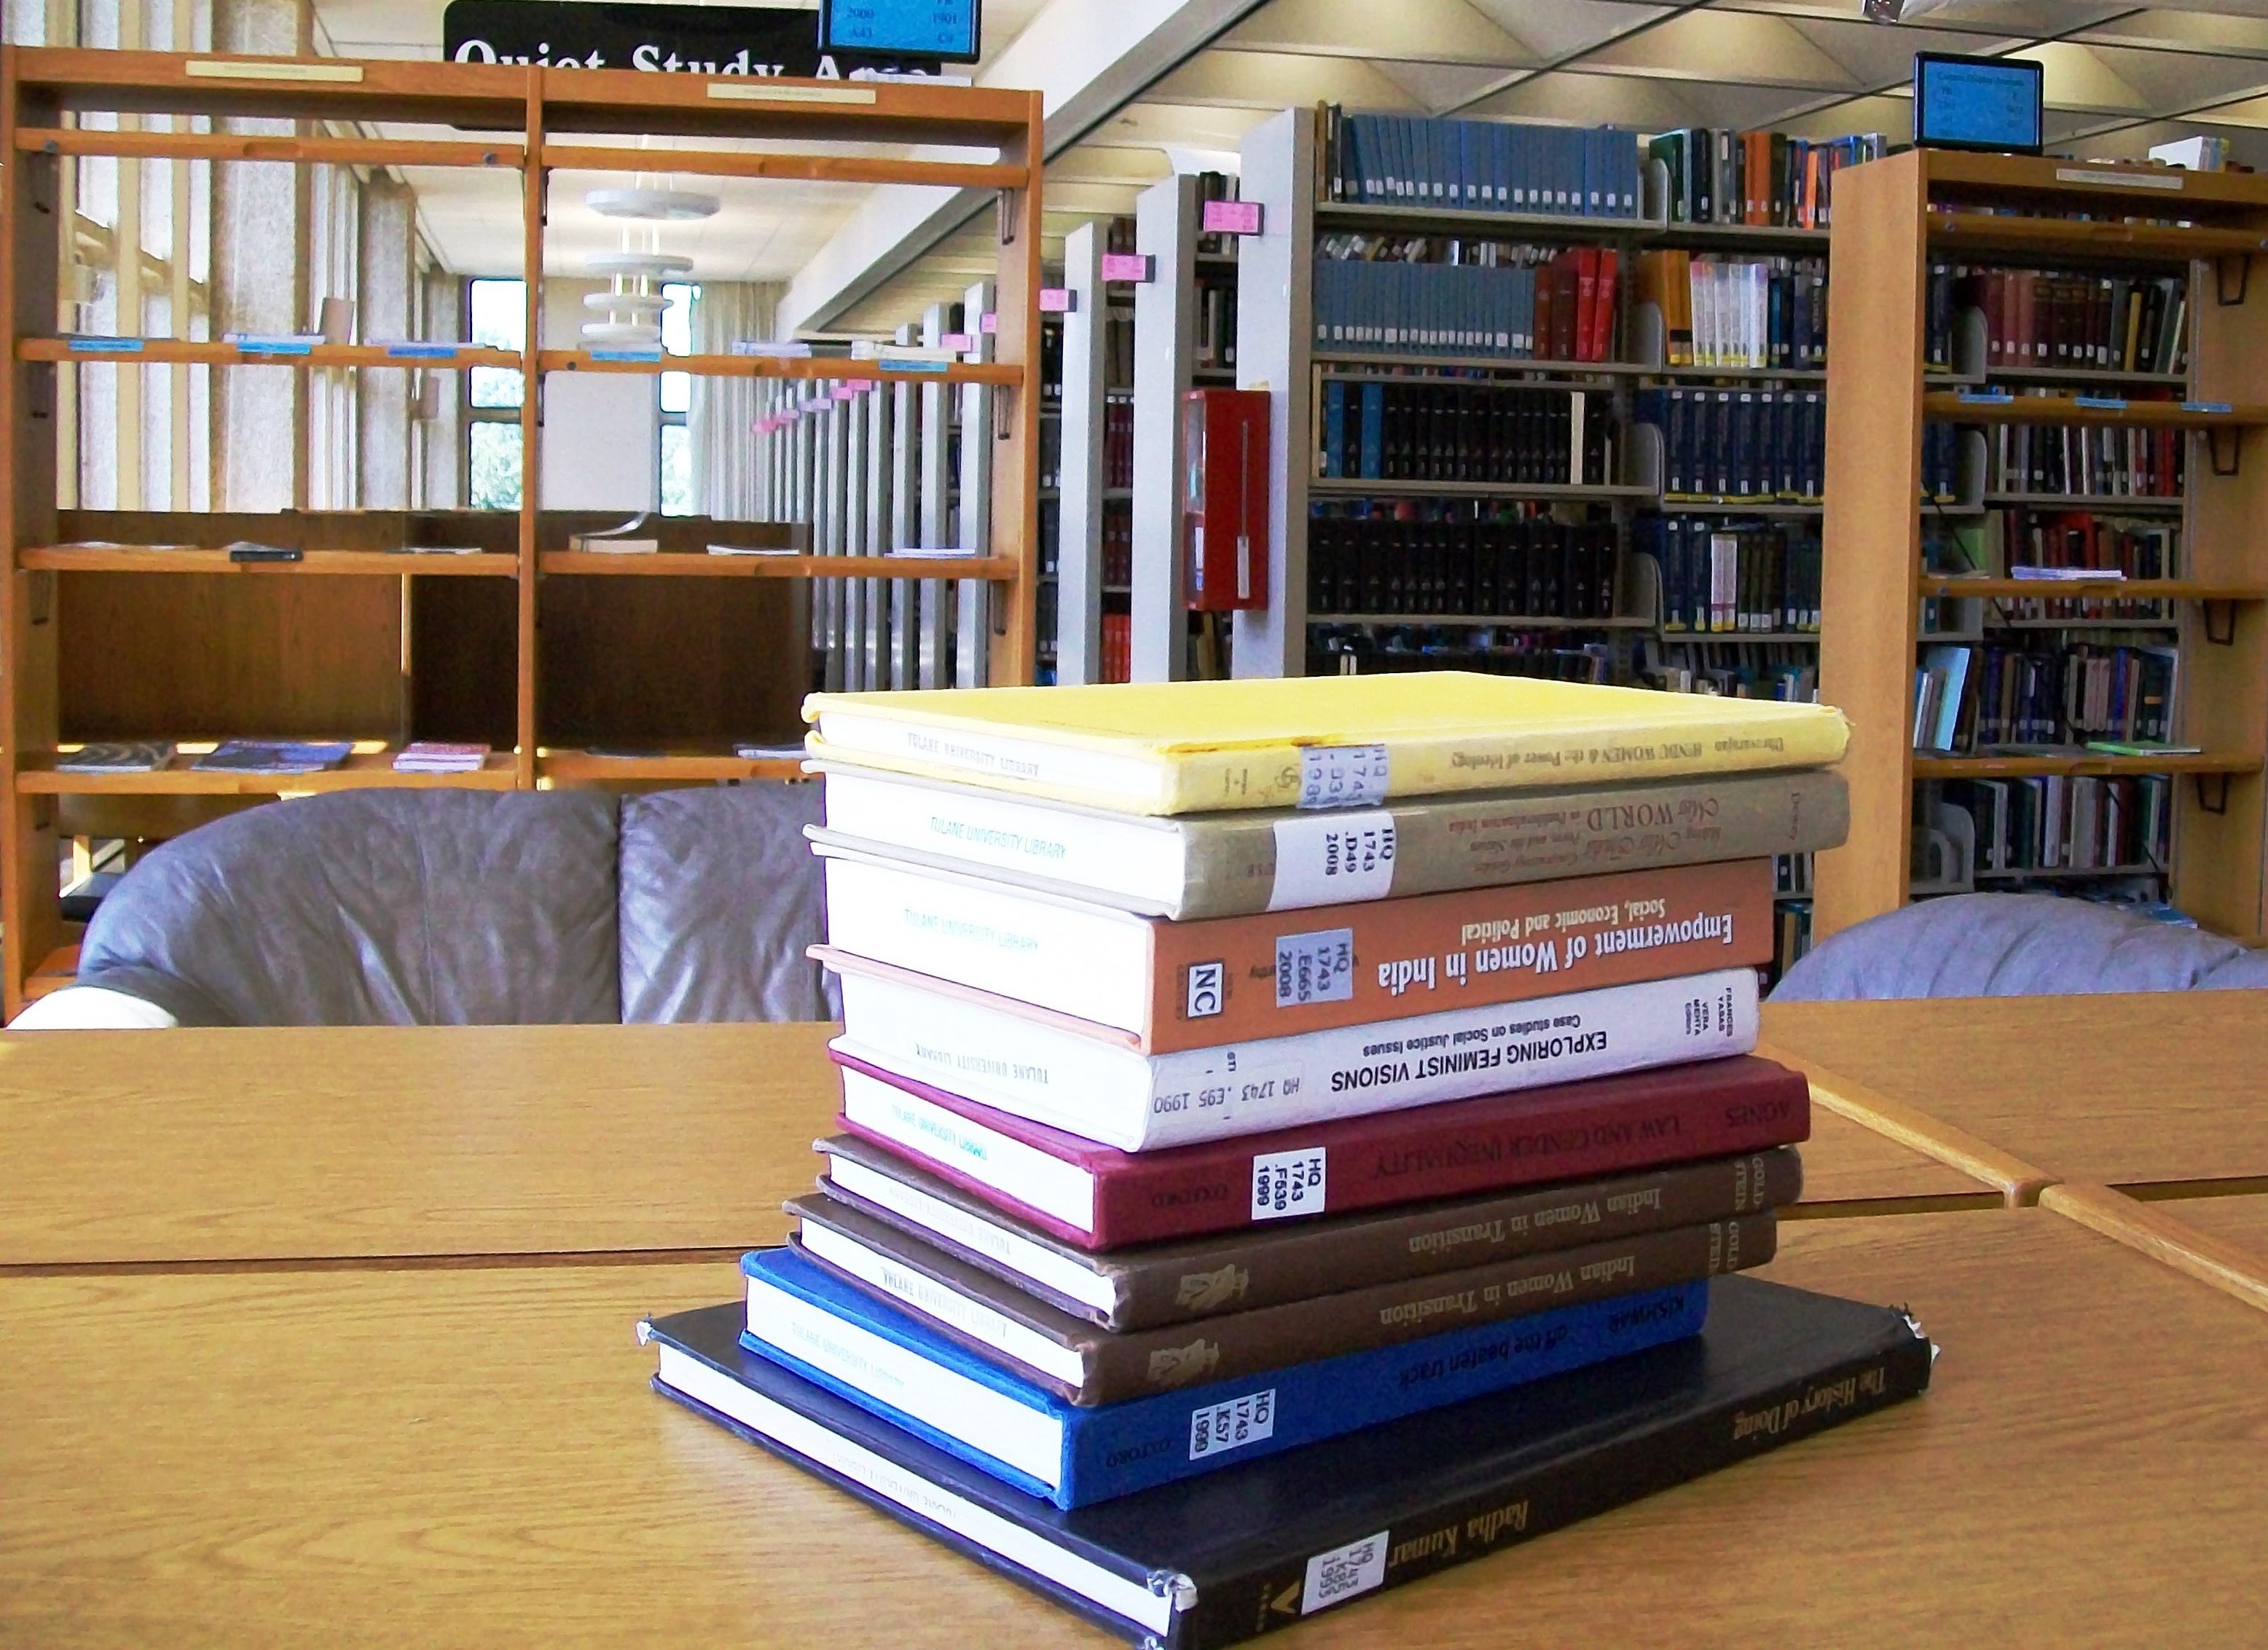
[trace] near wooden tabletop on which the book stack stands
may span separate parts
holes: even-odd
[[[1805,1222],[1769,1276],[1912,1303],[1935,1392],[1297,1643],[2250,1636],[2268,1315],[2046,1210]],[[649,1394],[633,1319],[733,1292],[5,1276],[0,1641],[1109,1643]]]

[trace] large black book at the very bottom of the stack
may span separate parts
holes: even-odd
[[[1692,1339],[1059,1512],[742,1351],[739,1328],[739,1303],[655,1319],[655,1392],[1163,1650],[1288,1627],[1794,1444],[1926,1389],[1935,1355],[1898,1310],[1719,1278]]]

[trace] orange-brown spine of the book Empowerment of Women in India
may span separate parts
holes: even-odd
[[[1372,900],[1327,922],[1152,922],[1148,1002],[1116,1024],[1145,1022],[1168,1054],[1755,966],[1771,943],[1769,859]]]

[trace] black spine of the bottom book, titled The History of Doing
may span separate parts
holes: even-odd
[[[1216,1650],[1331,1605],[1565,1530],[1674,1485],[1799,1444],[1930,1385],[1930,1344],[1912,1342],[1808,1373],[1751,1398],[1572,1451],[1481,1491],[1447,1496],[1386,1530],[1340,1530],[1306,1559],[1207,1577],[1175,1623],[1173,1650]]]

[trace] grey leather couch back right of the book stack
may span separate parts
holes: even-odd
[[[1923,900],[1821,941],[1774,1002],[2059,997],[2268,984],[2236,941],[2048,893]]]

